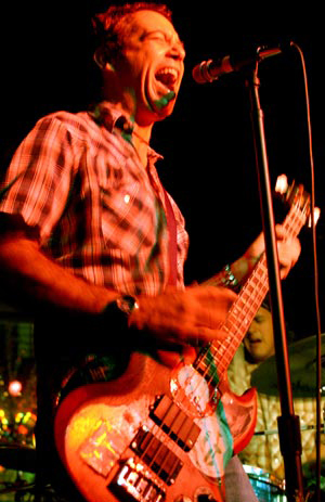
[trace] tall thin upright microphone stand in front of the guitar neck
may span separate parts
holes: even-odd
[[[301,469],[301,437],[299,416],[295,415],[288,362],[288,346],[277,258],[274,215],[271,195],[270,173],[264,134],[263,112],[260,106],[258,62],[247,86],[251,102],[251,120],[256,151],[260,206],[265,239],[265,254],[269,272],[270,297],[274,327],[277,382],[282,415],[277,417],[278,437],[285,465],[286,493],[288,502],[303,502]]]

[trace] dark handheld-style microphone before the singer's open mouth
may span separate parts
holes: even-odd
[[[281,53],[282,49],[280,49],[280,47],[274,49],[262,47],[259,48],[255,54],[246,54],[246,56],[225,55],[224,57],[216,61],[203,61],[202,63],[194,66],[192,76],[197,83],[212,82],[222,75],[230,74],[232,72],[238,72],[245,66]]]

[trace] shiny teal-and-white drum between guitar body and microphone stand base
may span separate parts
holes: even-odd
[[[244,465],[259,502],[287,502],[285,481],[251,465]]]

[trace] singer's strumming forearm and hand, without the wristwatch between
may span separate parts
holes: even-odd
[[[0,241],[0,279],[8,287],[42,306],[75,313],[101,313],[118,292],[94,286],[78,279],[40,253],[38,244],[27,239]],[[226,288],[169,288],[150,297],[136,297],[136,308],[129,325],[156,338],[166,347],[195,340],[223,339],[220,325],[225,320],[235,295]]]

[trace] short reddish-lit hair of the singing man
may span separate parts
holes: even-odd
[[[92,18],[92,25],[98,38],[95,61],[114,61],[120,53],[125,38],[130,34],[128,17],[139,11],[155,11],[171,22],[171,11],[162,3],[135,2],[122,5],[110,5],[102,14]]]

